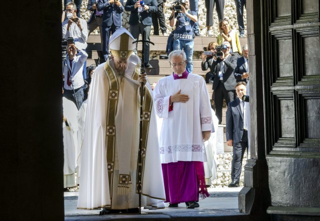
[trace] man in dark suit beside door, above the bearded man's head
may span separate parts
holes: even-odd
[[[236,79],[236,82],[239,81],[244,81],[248,82],[248,77],[249,77],[249,51],[248,51],[248,45],[244,44],[242,46],[242,57],[239,57],[237,62],[236,62],[236,68],[234,70],[234,77]]]

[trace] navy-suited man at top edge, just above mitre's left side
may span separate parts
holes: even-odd
[[[104,60],[109,57],[109,38],[116,29],[121,27],[123,0],[98,0],[98,11],[103,10],[102,15],[102,53]]]

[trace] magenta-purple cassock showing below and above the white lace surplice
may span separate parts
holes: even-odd
[[[185,70],[181,76],[173,73],[173,79],[187,78]],[[169,110],[170,107],[169,107]],[[162,163],[162,174],[165,189],[165,202],[179,203],[198,201],[199,194],[202,198],[209,196],[204,180],[203,162],[177,161]]]

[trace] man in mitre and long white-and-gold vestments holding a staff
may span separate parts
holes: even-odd
[[[111,56],[94,72],[88,94],[77,208],[138,212],[140,59],[134,38],[117,29],[109,39]],[[142,206],[164,207],[156,120],[151,87],[143,97]]]

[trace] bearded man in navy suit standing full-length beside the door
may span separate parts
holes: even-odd
[[[233,146],[231,162],[232,181],[228,187],[239,186],[243,154],[245,148],[248,148],[248,125],[246,125],[247,121],[245,119],[248,105],[242,101],[242,96],[246,92],[246,83],[243,81],[237,82],[235,91],[238,98],[230,102],[226,110],[226,144]]]

